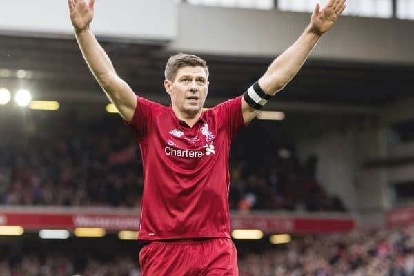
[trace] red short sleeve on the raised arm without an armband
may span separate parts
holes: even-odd
[[[148,133],[148,126],[152,125],[151,122],[159,110],[159,106],[159,103],[137,96],[137,107],[135,108],[134,116],[129,123],[125,123],[137,133],[138,139],[144,139]]]

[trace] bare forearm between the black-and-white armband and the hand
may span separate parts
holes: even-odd
[[[260,87],[270,95],[282,90],[302,68],[319,38],[320,35],[313,32],[311,26],[306,27],[299,39],[270,64],[259,79]]]

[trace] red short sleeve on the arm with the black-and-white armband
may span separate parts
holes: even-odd
[[[246,125],[243,120],[242,96],[220,103],[215,109],[226,124],[230,138],[233,139],[240,128]]]

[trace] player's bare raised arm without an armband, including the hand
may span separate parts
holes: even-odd
[[[68,3],[70,20],[75,28],[76,39],[83,58],[103,91],[117,107],[121,117],[125,121],[131,121],[137,106],[135,93],[117,75],[108,55],[89,28],[93,19],[95,0],[89,0],[89,3],[84,0],[68,0]]]

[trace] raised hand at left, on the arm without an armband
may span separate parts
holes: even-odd
[[[93,19],[93,6],[95,0],[68,0],[70,10],[70,20],[75,28],[75,32],[81,32],[89,27]]]

